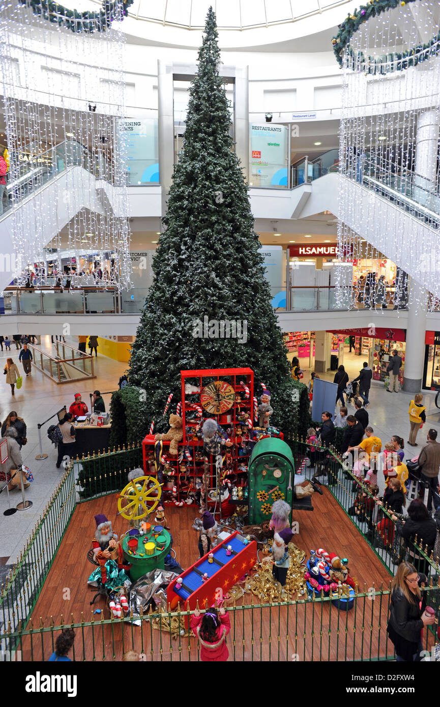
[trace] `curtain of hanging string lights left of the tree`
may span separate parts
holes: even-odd
[[[46,279],[52,274],[53,284],[68,276],[79,286],[97,280],[131,286],[127,158],[119,131],[125,5],[105,7],[105,32],[83,33],[83,16],[69,20],[76,23],[72,32],[62,6],[0,2],[11,247],[24,266],[18,284],[34,271]]]

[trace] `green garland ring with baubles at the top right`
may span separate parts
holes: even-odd
[[[368,5],[361,5],[359,10],[350,13],[345,21],[338,25],[339,32],[332,39],[333,52],[338,64],[342,67],[342,57],[349,41],[359,27],[372,17],[380,15],[382,12],[393,8],[408,5],[415,0],[369,0]],[[417,66],[419,62],[424,62],[429,57],[434,57],[440,53],[440,32],[432,37],[427,44],[417,45],[407,52],[394,52],[384,54],[382,57],[365,57],[363,52],[354,52],[349,49],[352,58],[352,69],[362,66],[366,74],[386,74],[389,71],[402,71],[409,66]]]

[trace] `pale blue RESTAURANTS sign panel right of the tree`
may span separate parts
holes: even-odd
[[[250,185],[287,188],[287,127],[250,123],[249,141]]]

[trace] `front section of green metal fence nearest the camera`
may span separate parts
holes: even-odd
[[[439,617],[439,588],[424,588],[427,602]],[[227,607],[231,630],[226,644],[234,661],[386,661],[395,660],[386,626],[389,588],[360,592],[354,607],[341,611],[329,597],[272,604]],[[149,613],[125,619],[81,621],[61,619],[59,625],[33,626],[8,633],[21,660],[47,660],[60,631],[74,629],[72,660],[121,660],[134,650],[148,661],[198,661],[200,645],[187,626],[193,612]],[[203,614],[203,612],[202,612]],[[135,624],[134,622],[137,622]],[[434,644],[432,631],[423,632],[423,649]]]

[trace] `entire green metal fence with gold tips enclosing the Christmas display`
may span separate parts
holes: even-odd
[[[303,440],[294,440],[296,468],[305,458],[307,446]],[[345,468],[334,449],[319,448],[323,452],[321,469],[328,477],[329,489],[347,513],[354,505],[356,480]],[[101,619],[86,621],[70,617],[67,624],[35,627],[29,621],[42,585],[62,540],[76,503],[86,498],[105,496],[122,489],[127,471],[142,462],[141,448],[114,450],[102,455],[72,462],[65,470],[57,489],[25,542],[20,559],[14,564],[1,586],[0,648],[21,650],[23,660],[47,660],[54,650],[54,641],[63,627],[76,630],[75,660],[120,660],[125,650],[133,648],[144,653],[148,660],[198,660],[199,645],[185,629],[189,614],[166,612],[136,618]],[[306,468],[310,478],[313,471]],[[369,489],[362,492],[371,496]],[[383,517],[394,530],[394,522],[385,509]],[[349,516],[371,545],[390,575],[395,573],[398,561],[408,559],[419,571],[431,575],[427,601],[436,609],[439,619],[439,586],[432,578],[439,574],[439,559],[433,558],[427,548],[417,542],[407,547],[396,532],[384,534],[377,528],[378,519],[366,514],[365,520]],[[378,543],[381,547],[377,547]],[[436,577],[434,578],[436,580]],[[389,589],[364,588],[354,598],[349,612],[338,610],[330,597],[303,598],[298,601],[254,604],[254,597],[245,597],[250,604],[228,607],[231,633],[228,636],[229,653],[234,660],[393,660],[393,646],[387,643]],[[140,626],[134,623],[140,621]],[[434,629],[424,631],[424,648],[429,650],[434,641]]]

